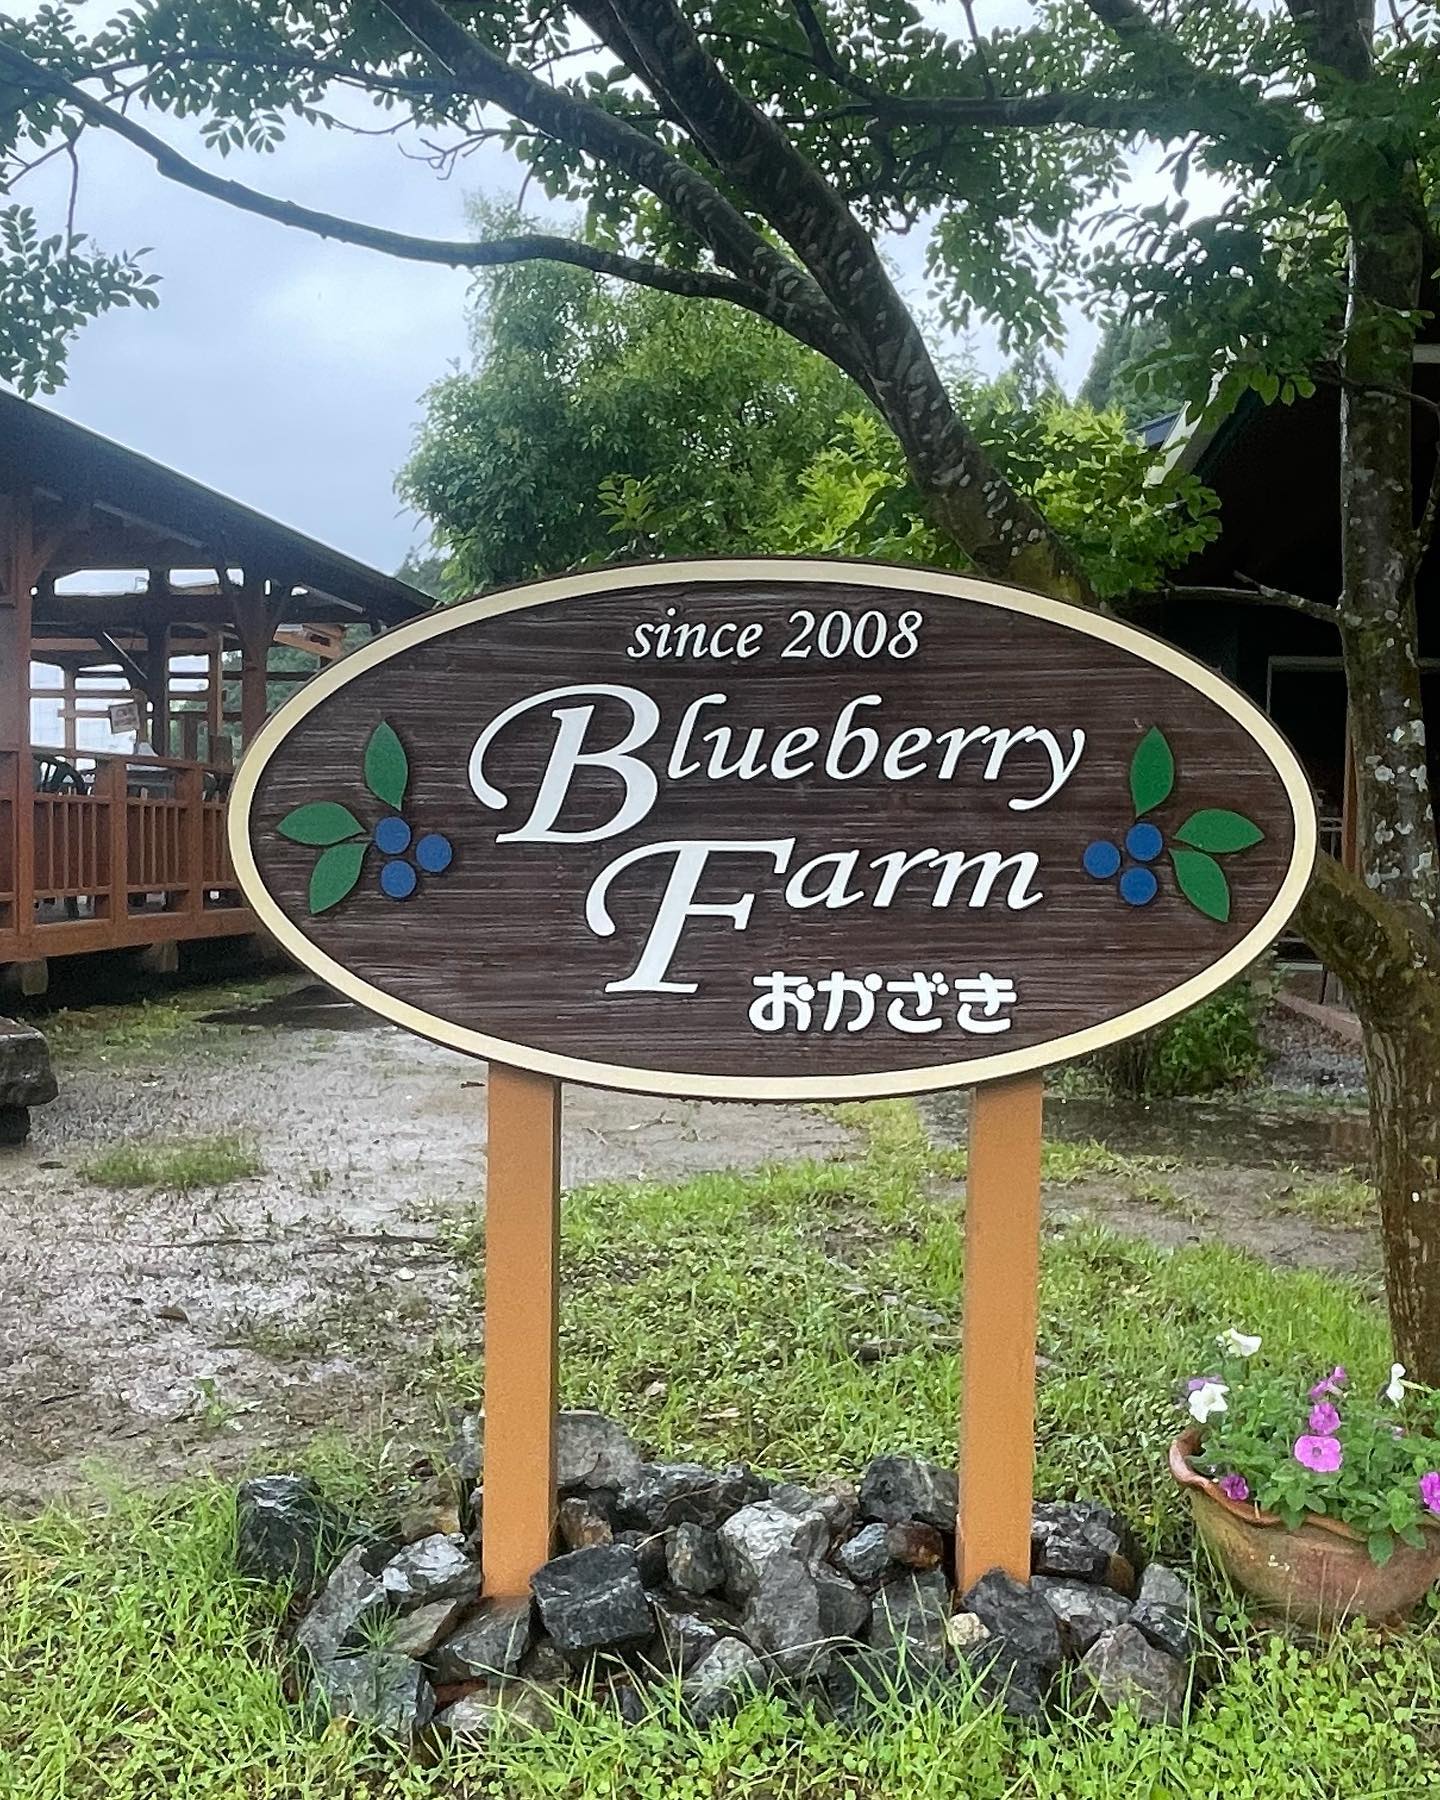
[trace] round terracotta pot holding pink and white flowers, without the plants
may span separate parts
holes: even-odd
[[[1364,1539],[1339,1519],[1307,1512],[1296,1530],[1251,1501],[1228,1499],[1190,1467],[1201,1433],[1170,1445],[1170,1474],[1190,1494],[1195,1528],[1237,1588],[1300,1625],[1337,1625],[1345,1618],[1399,1618],[1440,1580],[1440,1530],[1426,1530],[1424,1550],[1397,1543],[1381,1566]]]

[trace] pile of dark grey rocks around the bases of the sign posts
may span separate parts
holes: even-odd
[[[756,1692],[862,1719],[889,1697],[972,1688],[1039,1717],[1071,1697],[1179,1719],[1199,1651],[1186,1582],[1141,1557],[1105,1507],[1035,1508],[1031,1579],[992,1570],[954,1595],[956,1478],[880,1456],[859,1489],[769,1483],[742,1463],[644,1462],[599,1413],[558,1431],[563,1552],[522,1600],[479,1598],[479,1496],[409,1543],[365,1535],[317,1575],[337,1521],[295,1476],[239,1492],[239,1566],[311,1595],[295,1629],[319,1708],[401,1737],[542,1728],[583,1683],[626,1715],[646,1687],[697,1723]],[[436,1523],[434,1516],[428,1519]]]

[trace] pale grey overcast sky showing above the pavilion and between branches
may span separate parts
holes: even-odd
[[[97,18],[112,5],[77,11]],[[977,13],[992,25],[1028,7],[979,0]],[[520,185],[518,166],[493,146],[443,182],[403,155],[403,139],[297,126],[275,155],[221,162],[202,149],[193,124],[144,117],[176,149],[227,176],[419,236],[468,236],[466,193],[513,198]],[[162,275],[160,306],[88,326],[67,385],[41,396],[41,405],[394,569],[421,536],[394,497],[394,473],[425,387],[466,356],[468,277],[236,212],[162,180],[137,149],[104,133],[86,133],[81,164],[79,227],[104,248],[149,245],[148,265]],[[59,229],[67,184],[56,160],[14,198]],[[922,297],[922,243],[887,248]],[[1084,374],[1091,347],[1093,333],[1076,322],[1062,367],[1067,385]],[[985,340],[977,351],[995,365]]]

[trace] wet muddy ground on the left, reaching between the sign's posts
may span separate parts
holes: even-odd
[[[0,1152],[0,1503],[90,1463],[167,1480],[329,1427],[423,1431],[410,1372],[479,1332],[446,1226],[484,1192],[484,1066],[319,988],[194,1019],[58,1031],[61,1098]],[[83,1172],[121,1141],[216,1134],[263,1174],[182,1197]],[[565,1089],[567,1184],[846,1141],[808,1109]]]

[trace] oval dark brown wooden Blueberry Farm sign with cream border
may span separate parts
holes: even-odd
[[[1183,1012],[1300,900],[1271,722],[1100,614],[922,569],[538,581],[311,680],[236,776],[247,898],[412,1031],[650,1093],[968,1085]]]

